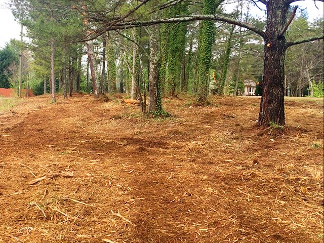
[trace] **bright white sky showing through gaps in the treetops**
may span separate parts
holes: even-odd
[[[52,0],[55,1],[55,0]],[[20,39],[20,25],[15,21],[12,12],[8,9],[9,0],[0,0],[0,48],[4,48],[11,38]],[[323,16],[323,3],[316,1],[315,7],[313,0],[298,1],[295,5],[307,8],[309,20]],[[260,5],[261,7],[262,5]],[[256,14],[260,11],[255,8]]]

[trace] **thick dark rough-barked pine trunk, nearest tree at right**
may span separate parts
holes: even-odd
[[[285,125],[284,78],[286,39],[281,31],[287,23],[289,4],[271,0],[267,4],[267,29],[264,46],[262,98],[258,125]]]

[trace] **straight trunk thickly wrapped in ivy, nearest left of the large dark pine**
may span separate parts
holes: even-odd
[[[215,14],[215,0],[204,0],[203,14]],[[209,93],[212,51],[215,42],[215,22],[203,20],[200,23],[198,44],[197,102],[207,103]]]

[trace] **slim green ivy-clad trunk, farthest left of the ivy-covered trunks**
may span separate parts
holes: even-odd
[[[114,94],[117,92],[116,89],[116,63],[115,63],[115,52],[111,46],[111,41],[107,42],[107,85],[108,92]]]

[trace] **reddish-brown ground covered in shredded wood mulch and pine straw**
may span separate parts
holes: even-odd
[[[0,114],[0,242],[322,242],[323,103],[165,99],[172,116],[74,95]]]

